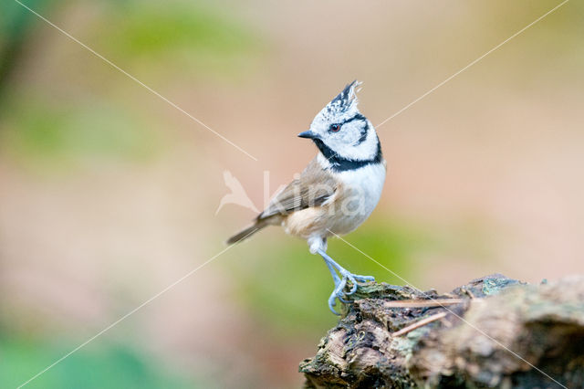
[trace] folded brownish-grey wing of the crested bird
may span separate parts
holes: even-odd
[[[300,177],[288,184],[270,201],[264,212],[257,216],[257,220],[275,215],[288,215],[309,206],[322,205],[336,190],[336,181],[328,171],[320,167],[315,158],[308,163]]]

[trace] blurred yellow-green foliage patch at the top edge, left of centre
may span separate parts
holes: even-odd
[[[220,7],[173,0],[112,2],[91,41],[125,66],[183,77],[239,75],[263,46],[253,28]]]

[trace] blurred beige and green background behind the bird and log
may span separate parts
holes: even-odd
[[[23,384],[224,249],[316,153],[346,83],[384,121],[559,4],[23,0],[0,4],[0,386]],[[381,204],[347,239],[420,289],[584,272],[584,5],[568,2],[378,128]],[[267,174],[266,173],[266,174]],[[352,271],[401,279],[339,240]],[[268,229],[30,388],[298,387],[337,318],[305,242]]]

